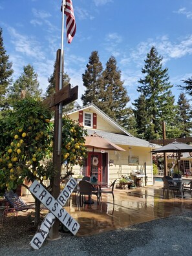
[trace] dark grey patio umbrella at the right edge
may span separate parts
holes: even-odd
[[[152,153],[169,153],[169,152],[175,153],[177,169],[178,169],[178,154],[184,153],[184,152],[192,152],[192,146],[184,143],[176,142],[175,140],[175,142],[159,147],[158,149],[154,149],[151,152]]]

